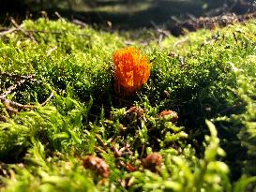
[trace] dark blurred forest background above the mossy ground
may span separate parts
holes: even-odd
[[[254,3],[253,3],[254,2]],[[44,11],[44,12],[42,12]],[[0,0],[0,22],[36,19],[55,11],[69,20],[121,29],[173,25],[189,19],[255,11],[254,0]]]

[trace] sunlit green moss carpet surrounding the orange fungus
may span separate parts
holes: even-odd
[[[127,97],[114,92],[122,37],[21,27],[0,37],[0,191],[255,187],[255,21],[150,42],[150,78]]]

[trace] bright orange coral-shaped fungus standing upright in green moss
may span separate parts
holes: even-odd
[[[128,96],[148,80],[150,66],[145,55],[134,47],[128,47],[113,53],[115,91]]]

